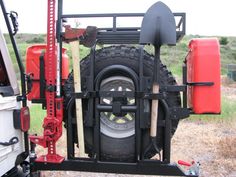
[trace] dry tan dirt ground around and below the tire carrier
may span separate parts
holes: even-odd
[[[236,87],[222,86],[226,97],[236,99]],[[59,143],[61,154],[66,154],[65,137]],[[184,160],[201,164],[200,177],[236,177],[236,120],[182,120],[172,139],[172,162]],[[43,172],[44,177],[141,177],[85,172]],[[142,176],[144,177],[144,176]]]

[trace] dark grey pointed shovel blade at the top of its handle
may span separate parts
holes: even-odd
[[[143,17],[140,44],[176,44],[176,24],[174,14],[163,2],[153,4]]]

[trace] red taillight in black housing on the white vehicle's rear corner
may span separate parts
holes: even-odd
[[[23,107],[20,110],[14,110],[14,127],[26,132],[30,128],[30,111],[28,107]]]

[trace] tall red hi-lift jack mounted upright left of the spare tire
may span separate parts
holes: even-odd
[[[56,153],[56,142],[62,135],[63,99],[56,98],[56,0],[48,0],[48,29],[45,61],[47,116],[44,118],[43,136],[30,136],[30,140],[48,148],[47,155],[36,159],[38,162],[61,163],[64,157]]]

